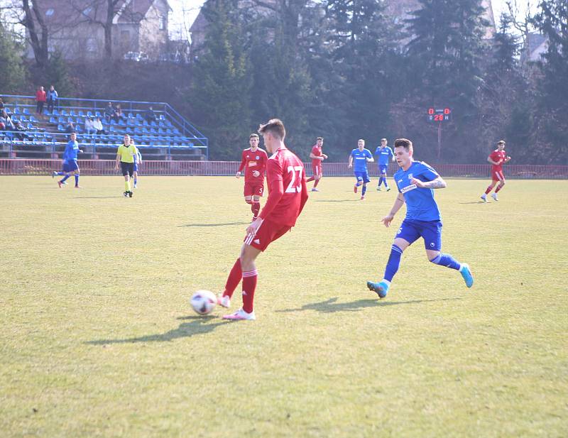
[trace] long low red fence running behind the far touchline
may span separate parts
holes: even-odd
[[[116,175],[114,160],[79,160],[83,175]],[[488,177],[488,164],[439,164],[434,168],[444,177]],[[144,161],[140,172],[143,175],[234,175],[238,161]],[[307,175],[312,175],[312,166],[305,164]],[[0,159],[0,175],[49,175],[61,170],[61,160]],[[371,176],[378,175],[376,165],[369,165]],[[388,174],[398,166],[391,163]],[[568,178],[568,166],[560,165],[506,165],[506,177],[510,178]],[[325,176],[352,176],[346,163],[323,163]]]

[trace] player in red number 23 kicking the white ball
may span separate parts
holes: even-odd
[[[243,307],[224,319],[256,319],[253,311],[257,272],[254,261],[268,245],[288,233],[295,225],[307,201],[304,165],[284,145],[286,130],[279,119],[271,119],[258,128],[271,158],[266,163],[268,199],[258,219],[246,229],[241,256],[236,259],[219,305],[229,307],[234,290],[243,280]]]

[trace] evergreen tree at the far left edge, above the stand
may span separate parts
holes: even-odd
[[[0,94],[19,94],[26,83],[23,48],[0,23]]]

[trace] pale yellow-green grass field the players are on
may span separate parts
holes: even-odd
[[[258,259],[255,322],[189,305],[238,256],[242,180],[81,182],[0,177],[0,437],[568,435],[568,181],[449,180],[474,287],[420,241],[378,301],[404,210],[326,178]]]

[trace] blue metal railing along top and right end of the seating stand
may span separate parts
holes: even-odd
[[[26,108],[30,114],[35,113],[35,96],[0,94],[0,97],[4,100],[4,106]],[[132,113],[134,116],[136,116],[136,114],[143,115],[148,110],[148,107],[152,106],[155,113],[158,114],[158,116],[163,115],[165,119],[170,120],[173,126],[180,130],[182,136],[199,143],[199,147],[205,150],[205,155],[207,159],[209,159],[209,139],[166,102],[58,97],[55,101],[54,108],[57,109],[58,112],[65,109],[77,111],[77,113],[78,111],[91,111],[93,114],[96,114],[97,111],[99,111],[101,116],[104,116],[104,109],[109,102],[114,105],[120,104],[123,112]],[[45,107],[47,107],[47,105],[45,105]]]

